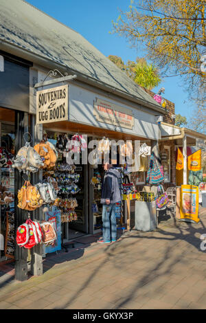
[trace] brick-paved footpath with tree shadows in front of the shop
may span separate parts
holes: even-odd
[[[190,224],[171,213],[154,232],[133,231],[111,245],[77,243],[49,255],[45,274],[26,282],[10,271],[0,278],[0,309],[205,309],[206,209],[199,217]]]

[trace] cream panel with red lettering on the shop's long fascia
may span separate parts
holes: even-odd
[[[93,113],[99,122],[133,129],[134,117],[130,109],[119,107],[117,104],[97,98],[94,102]]]

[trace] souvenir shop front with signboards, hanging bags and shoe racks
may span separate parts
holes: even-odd
[[[27,88],[28,85],[27,76]],[[101,156],[106,153],[113,157],[111,142],[123,142],[117,146],[115,156],[122,173],[119,185],[122,194],[132,194],[146,181],[149,147],[159,139],[155,111],[137,110],[124,100],[115,101],[101,92],[71,84],[47,89],[50,96],[43,91],[36,91],[34,96],[36,115],[10,109],[7,102],[0,104],[0,260],[16,260],[17,280],[27,279],[28,263],[32,274],[42,274],[42,256],[60,250],[66,241],[100,232],[104,171],[102,157],[98,159],[92,153],[94,148]],[[48,102],[49,98],[52,102]],[[23,109],[23,101],[20,102]],[[24,102],[31,105],[28,91]],[[91,140],[94,145],[90,145]],[[128,165],[119,164],[119,156],[130,150],[130,145],[125,146],[126,140],[132,142],[134,156],[139,156],[139,145],[147,150],[136,158],[138,161],[130,170]],[[95,162],[89,162],[89,153]],[[128,183],[131,172],[132,184]],[[116,216],[117,224],[123,226],[127,221],[123,203],[117,205]],[[44,244],[39,243],[42,239],[39,223],[43,225],[42,232],[50,234],[50,240]],[[54,225],[48,227],[47,223]],[[36,234],[34,241],[28,242],[26,236],[31,230]]]

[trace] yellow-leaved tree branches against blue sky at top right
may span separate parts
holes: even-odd
[[[206,77],[201,71],[205,8],[205,0],[133,0],[113,23],[113,32],[146,50],[162,77],[181,75],[190,98],[201,100],[201,104],[205,104],[205,91],[200,98]]]

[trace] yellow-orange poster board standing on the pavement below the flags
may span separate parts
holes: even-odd
[[[181,186],[180,220],[198,223],[198,186]]]

